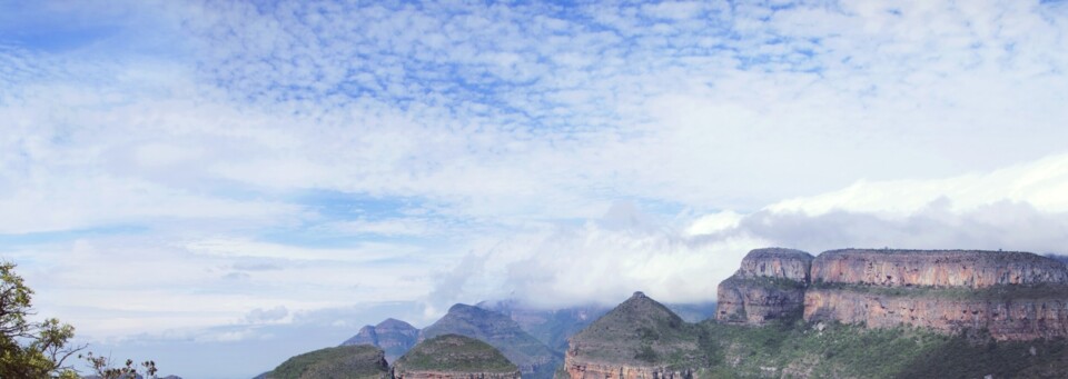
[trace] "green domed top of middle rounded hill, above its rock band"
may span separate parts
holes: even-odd
[[[443,335],[419,342],[397,360],[396,367],[406,371],[518,371],[518,368],[494,347],[458,335]]]

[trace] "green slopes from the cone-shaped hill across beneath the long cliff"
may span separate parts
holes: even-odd
[[[996,342],[981,330],[946,336],[800,318],[764,327],[688,323],[640,293],[575,335],[568,353],[689,369],[698,378],[1068,378],[1064,339]]]

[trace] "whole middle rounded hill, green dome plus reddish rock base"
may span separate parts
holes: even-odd
[[[396,379],[520,379],[518,368],[486,342],[442,335],[416,345],[394,363]]]

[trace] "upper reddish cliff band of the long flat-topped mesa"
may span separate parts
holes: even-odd
[[[812,280],[872,286],[985,288],[1068,283],[1068,270],[1029,252],[968,250],[832,250],[812,263]]]

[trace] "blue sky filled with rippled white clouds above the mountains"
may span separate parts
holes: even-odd
[[[761,247],[1068,253],[1066,103],[1065,1],[0,0],[0,258],[90,350],[249,378]]]

